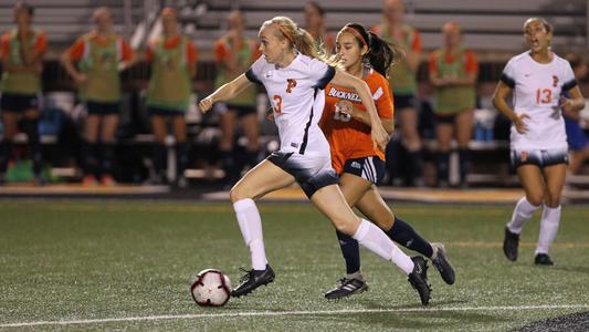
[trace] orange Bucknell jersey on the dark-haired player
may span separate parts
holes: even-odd
[[[381,118],[392,118],[392,95],[387,79],[370,70],[364,81],[370,87],[378,115]],[[370,126],[351,118],[348,114],[336,112],[335,104],[340,100],[349,101],[354,107],[366,112],[360,96],[354,90],[334,84],[328,84],[325,89],[325,108],[319,126],[329,142],[334,169],[337,174],[341,174],[346,160],[351,158],[378,156],[385,160],[385,152],[380,147],[374,148]]]

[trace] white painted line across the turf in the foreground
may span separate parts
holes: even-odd
[[[515,310],[550,310],[550,309],[589,309],[589,304],[546,304],[546,305],[498,305],[498,307],[440,307],[440,308],[407,308],[407,309],[350,309],[350,310],[319,310],[319,311],[251,311],[202,314],[168,314],[127,318],[107,318],[72,321],[38,321],[0,324],[0,328],[24,328],[40,325],[74,325],[101,324],[113,322],[164,321],[164,320],[196,320],[208,318],[241,318],[241,317],[287,317],[287,315],[332,315],[354,313],[397,313],[397,312],[445,312],[445,311],[515,311]]]

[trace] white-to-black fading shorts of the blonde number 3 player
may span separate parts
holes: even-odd
[[[339,183],[330,159],[324,156],[274,152],[266,159],[292,175],[308,198],[320,188]]]

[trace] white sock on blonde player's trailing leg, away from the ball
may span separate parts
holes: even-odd
[[[362,247],[380,256],[385,260],[393,262],[406,274],[413,271],[413,261],[401,251],[392,240],[370,221],[360,219],[360,226],[353,236]]]

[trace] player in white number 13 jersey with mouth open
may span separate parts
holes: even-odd
[[[534,263],[553,266],[548,250],[560,222],[568,163],[561,112],[579,112],[585,100],[570,64],[550,50],[553,27],[530,18],[524,23],[524,37],[529,51],[507,62],[493,97],[495,107],[513,122],[512,165],[526,194],[505,227],[503,250],[507,259],[517,260],[519,234],[544,204]],[[513,108],[505,102],[512,91]],[[561,97],[562,93],[568,97]]]

